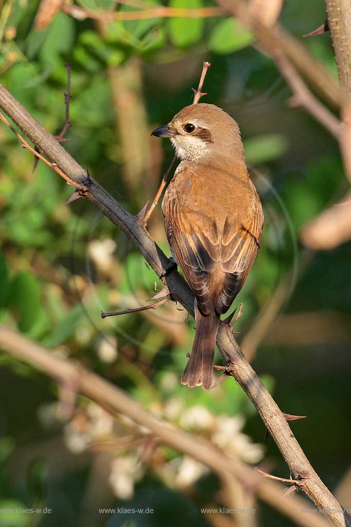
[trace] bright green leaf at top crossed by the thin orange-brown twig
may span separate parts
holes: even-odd
[[[202,7],[202,2],[200,0],[171,0],[169,7],[196,9]],[[177,47],[187,47],[202,37],[204,19],[170,18],[167,25],[172,43]]]

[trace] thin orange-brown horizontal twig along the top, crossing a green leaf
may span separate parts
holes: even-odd
[[[88,9],[65,2],[62,11],[78,20],[91,18],[101,22],[115,22],[124,20],[145,20],[147,18],[208,18],[222,15],[218,7],[153,7],[143,11],[101,11],[101,9]]]

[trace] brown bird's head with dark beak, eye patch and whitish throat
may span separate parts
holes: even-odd
[[[214,104],[192,104],[151,135],[169,138],[182,160],[236,158],[245,160],[239,127],[230,115]]]

